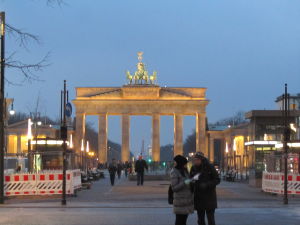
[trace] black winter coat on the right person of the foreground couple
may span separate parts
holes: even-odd
[[[218,207],[216,186],[220,183],[219,174],[208,161],[200,167],[191,168],[191,177],[198,173],[201,174],[199,180],[193,184],[195,209],[216,209]]]

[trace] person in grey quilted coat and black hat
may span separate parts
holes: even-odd
[[[187,170],[187,159],[181,155],[174,158],[175,166],[171,170],[171,188],[173,191],[173,212],[175,225],[186,225],[188,215],[194,212],[191,179]]]

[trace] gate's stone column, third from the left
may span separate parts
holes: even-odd
[[[130,117],[128,114],[122,115],[122,162],[129,161],[129,137],[130,137]]]

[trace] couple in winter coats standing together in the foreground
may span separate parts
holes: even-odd
[[[188,215],[195,210],[199,225],[205,225],[205,215],[208,225],[215,225],[216,186],[220,183],[218,172],[200,152],[195,154],[190,172],[185,157],[177,155],[174,162],[170,188],[176,215],[175,225],[186,225]]]

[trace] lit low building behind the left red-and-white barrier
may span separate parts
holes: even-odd
[[[68,148],[72,148],[73,130],[68,131]],[[26,159],[23,167],[34,167],[36,170],[62,168],[62,140],[60,127],[57,125],[37,123],[31,126],[31,141],[28,138],[28,120],[10,124],[6,128],[6,153],[7,161],[13,159]],[[30,143],[30,145],[29,145]],[[30,147],[29,147],[30,146]],[[70,151],[72,153],[72,151]],[[68,154],[68,167],[74,164],[72,154]],[[32,157],[28,165],[27,159]],[[18,162],[15,160],[14,162]],[[19,165],[7,163],[6,169],[14,169]],[[22,170],[26,169],[22,168]]]

